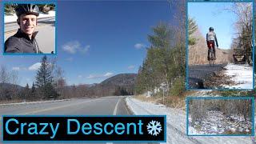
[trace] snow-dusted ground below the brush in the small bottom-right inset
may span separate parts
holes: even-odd
[[[251,121],[245,121],[238,115],[224,116],[221,111],[209,110],[206,112],[206,118],[202,122],[194,122],[189,118],[189,134],[251,134]],[[195,130],[195,128],[197,130]]]

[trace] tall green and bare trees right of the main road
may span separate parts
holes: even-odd
[[[138,70],[136,94],[180,97],[185,91],[186,45],[185,45],[185,1],[171,2],[179,13],[174,16],[179,26],[159,22],[147,36],[150,46],[146,58]],[[184,18],[182,18],[184,17]],[[177,19],[176,19],[177,18]],[[170,100],[171,101],[171,100]]]

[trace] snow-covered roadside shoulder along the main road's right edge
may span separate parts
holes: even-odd
[[[169,108],[150,102],[141,102],[138,99],[127,97],[126,103],[134,114],[144,115],[166,115],[167,120],[167,142],[174,144],[202,143],[202,144],[250,144],[250,137],[188,137],[186,136],[186,112],[183,110]]]

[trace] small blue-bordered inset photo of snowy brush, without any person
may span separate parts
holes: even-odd
[[[187,97],[188,136],[254,136],[254,97]]]

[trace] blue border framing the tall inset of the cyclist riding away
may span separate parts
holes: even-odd
[[[197,88],[190,88],[189,86],[189,58],[188,58],[188,3],[189,2],[252,2],[253,3],[253,19],[255,17],[254,14],[254,0],[186,0],[186,90],[254,90],[254,76],[253,76],[253,86],[251,89],[238,89],[238,88],[218,88],[218,89],[214,89],[214,88],[209,88],[209,89],[197,89]],[[254,21],[253,21],[253,75],[254,75]]]

